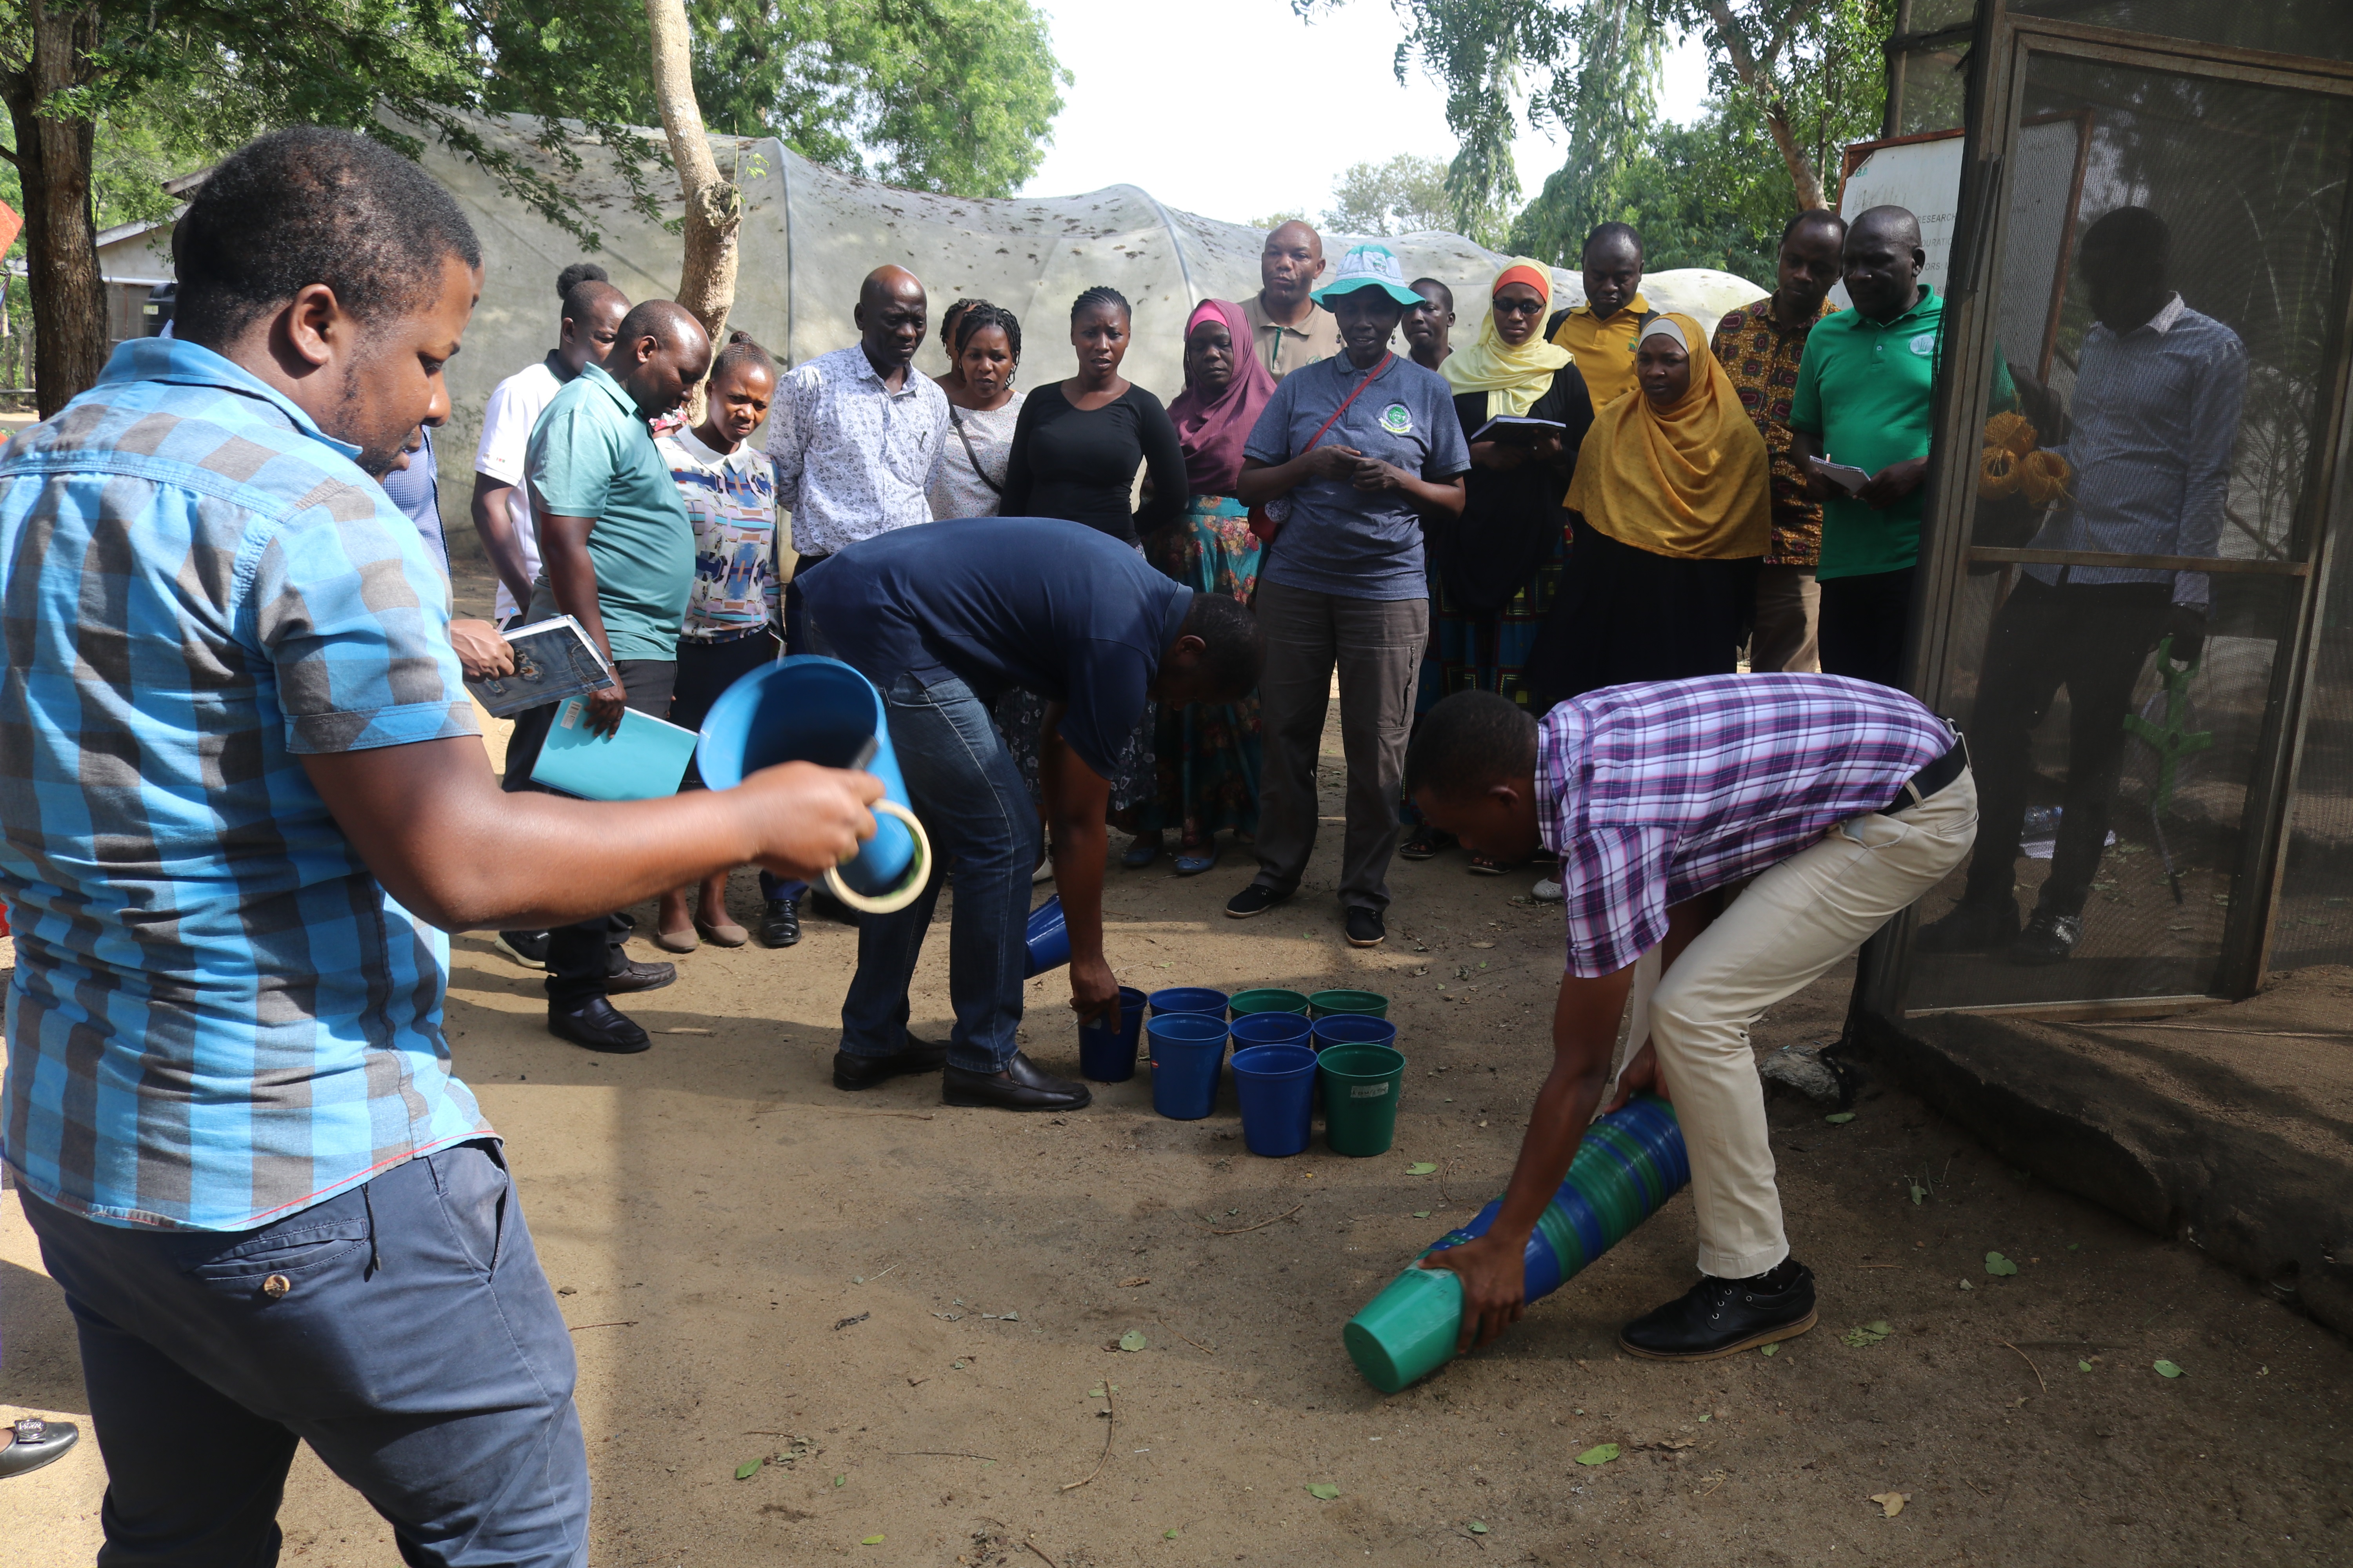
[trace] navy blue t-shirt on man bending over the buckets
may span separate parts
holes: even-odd
[[[984,703],[1007,686],[1068,703],[1061,738],[1104,778],[1193,609],[1134,545],[1056,517],[892,529],[795,583],[842,663],[882,691],[955,675]]]

